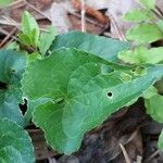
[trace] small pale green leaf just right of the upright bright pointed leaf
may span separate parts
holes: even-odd
[[[40,35],[39,50],[41,54],[43,55],[46,54],[46,52],[49,50],[50,46],[52,45],[52,41],[54,40],[55,36],[57,36],[57,32],[53,26],[50,26],[47,33],[42,33]]]

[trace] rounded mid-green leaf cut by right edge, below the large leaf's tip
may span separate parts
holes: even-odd
[[[156,122],[163,123],[163,96],[155,95],[145,101],[147,113]]]

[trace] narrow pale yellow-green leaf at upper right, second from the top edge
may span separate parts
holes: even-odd
[[[125,21],[129,21],[129,22],[150,21],[153,17],[154,17],[154,14],[152,12],[140,10],[140,9],[131,10],[123,16]]]

